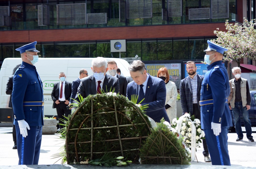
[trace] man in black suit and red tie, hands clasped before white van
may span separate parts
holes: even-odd
[[[60,72],[60,82],[54,83],[51,98],[53,100],[52,108],[56,108],[59,119],[59,128],[64,128],[63,120],[66,120],[64,115],[68,117],[71,114],[71,110],[67,108],[70,96],[72,92],[72,83],[66,81],[65,73]]]

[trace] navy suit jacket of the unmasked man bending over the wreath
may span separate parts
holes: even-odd
[[[133,94],[138,95],[138,85],[132,81],[127,85],[127,98],[131,100]],[[165,110],[166,88],[162,79],[149,75],[145,92],[145,99],[141,105],[149,104],[145,110],[146,115],[160,122],[164,117],[165,121],[170,122]]]

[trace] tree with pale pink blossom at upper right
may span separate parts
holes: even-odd
[[[236,61],[238,67],[240,67],[240,61],[243,58],[250,58],[256,60],[256,20],[250,22],[244,18],[243,24],[229,23],[226,20],[225,31],[219,31],[219,28],[214,31],[217,39],[212,42],[219,44],[222,47],[228,49],[223,55],[223,59],[226,61]]]

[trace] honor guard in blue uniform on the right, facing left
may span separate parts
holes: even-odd
[[[207,72],[201,87],[201,127],[204,129],[212,165],[231,165],[228,154],[228,127],[232,126],[227,98],[230,93],[227,69],[222,65],[226,48],[207,41],[204,50]]]

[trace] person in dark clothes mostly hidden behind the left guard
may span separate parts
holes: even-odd
[[[8,78],[8,81],[7,81],[7,84],[6,84],[6,94],[10,95],[10,100],[9,100],[8,107],[12,108],[12,112],[13,112],[13,105],[12,105],[13,76],[14,75],[12,75]],[[13,120],[14,120],[14,114],[12,115],[12,117],[13,117]],[[16,137],[15,125],[13,125],[13,141],[14,141],[13,149],[17,149],[17,137]]]

